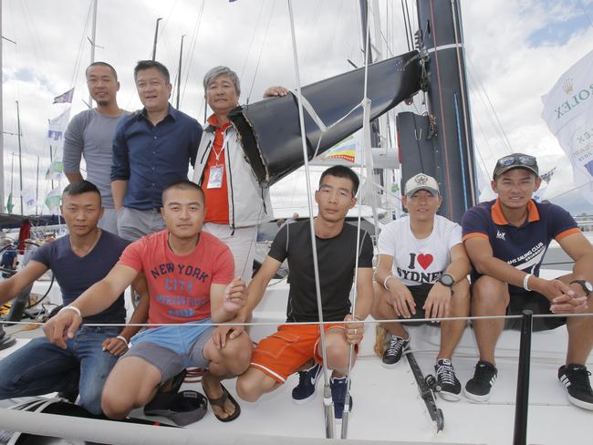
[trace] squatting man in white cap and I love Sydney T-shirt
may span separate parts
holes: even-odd
[[[469,316],[470,261],[461,226],[436,214],[442,202],[438,182],[417,174],[406,182],[401,202],[410,217],[389,223],[380,233],[372,315],[377,320]],[[391,334],[383,354],[383,364],[391,367],[409,347],[410,336],[401,323],[380,326]],[[465,326],[464,320],[441,324],[434,368],[442,388],[439,394],[447,400],[461,398],[451,358]]]

